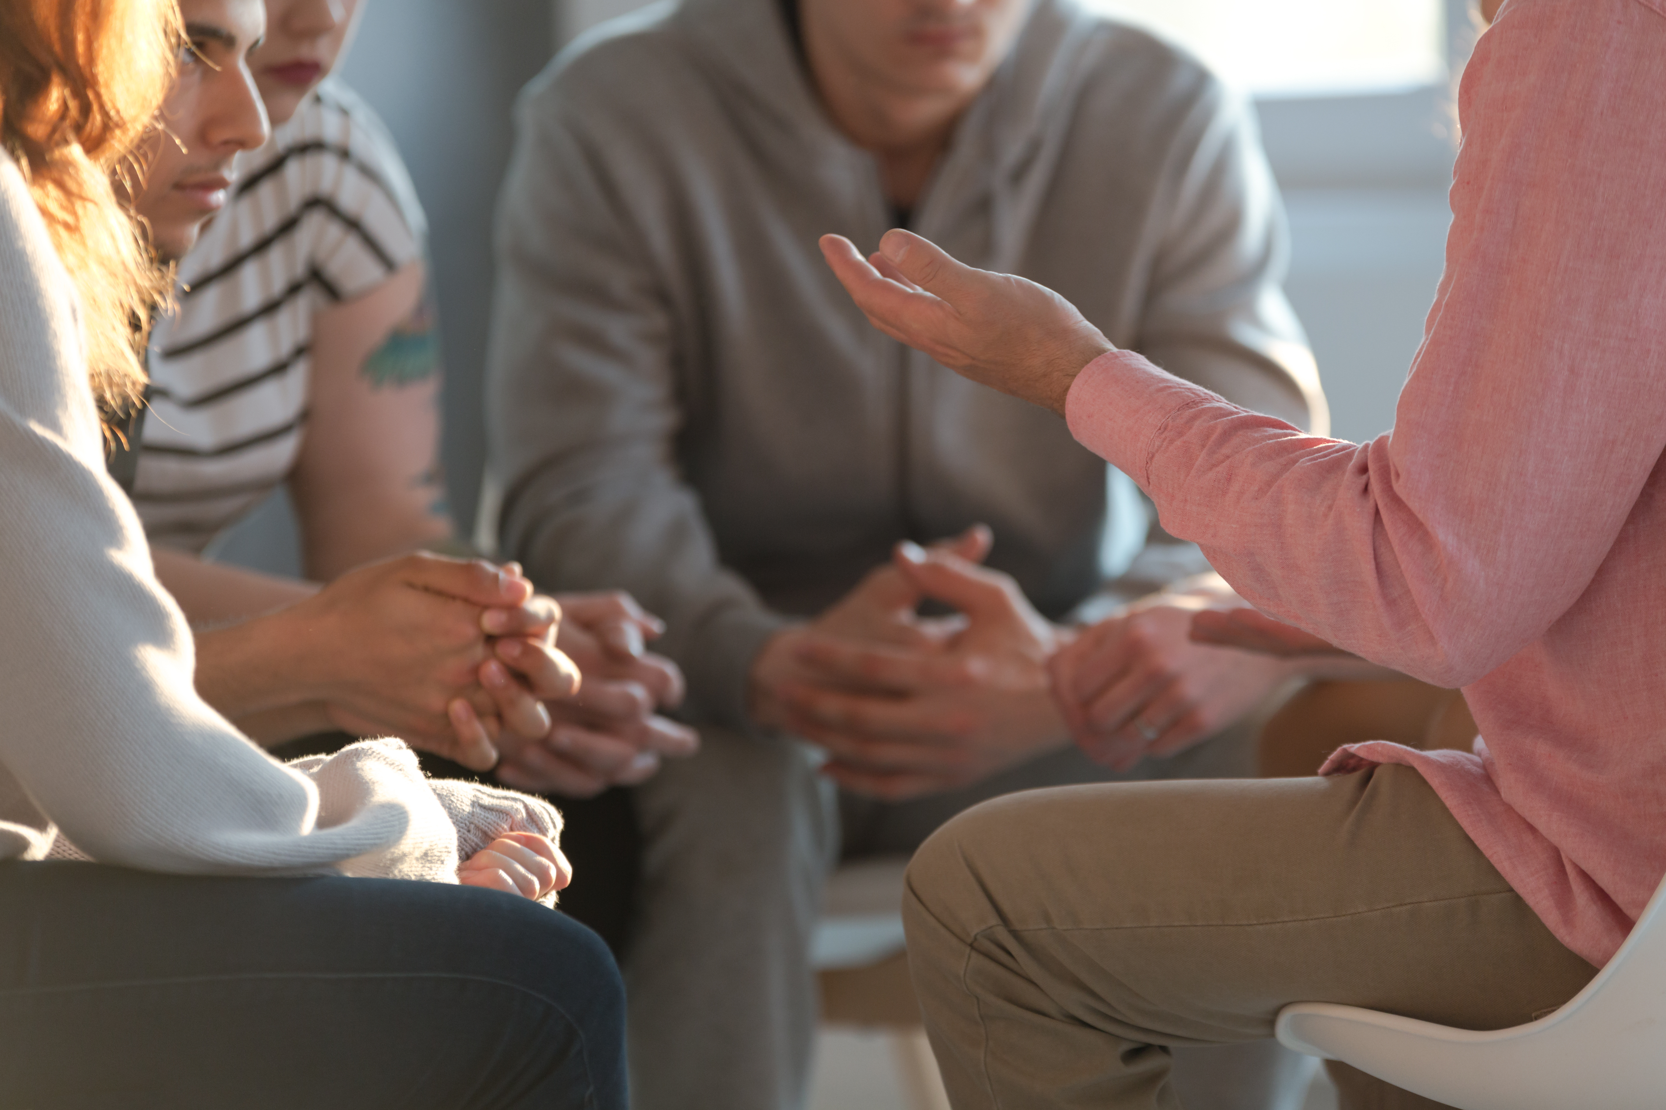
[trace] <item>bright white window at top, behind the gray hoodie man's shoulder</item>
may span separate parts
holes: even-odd
[[[1085,0],[1259,95],[1399,92],[1446,77],[1443,0]]]

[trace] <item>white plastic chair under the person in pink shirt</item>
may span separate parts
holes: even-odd
[[[1666,1107],[1666,880],[1584,990],[1494,1032],[1328,1002],[1279,1010],[1278,1038],[1458,1110]]]

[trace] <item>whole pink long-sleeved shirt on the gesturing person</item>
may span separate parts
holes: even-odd
[[[1304,436],[1126,351],[1068,418],[1251,604],[1463,687],[1474,754],[1326,772],[1416,767],[1601,965],[1666,872],[1666,0],[1509,0],[1459,115],[1391,433]]]

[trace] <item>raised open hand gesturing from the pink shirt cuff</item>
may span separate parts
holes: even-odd
[[[1116,349],[1053,290],[961,265],[911,231],[886,231],[868,260],[823,235],[821,253],[875,328],[1055,413],[1081,368]]]

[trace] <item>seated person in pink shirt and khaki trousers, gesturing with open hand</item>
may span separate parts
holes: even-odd
[[[876,326],[1061,413],[1250,604],[1461,687],[1483,737],[1354,744],[1321,779],[1036,792],[948,825],[905,912],[958,1108],[1171,1107],[1163,1047],[1268,1037],[1289,1002],[1524,1022],[1661,882],[1666,3],[1484,8],[1446,270],[1371,443],[1228,404],[918,236],[871,263],[823,241]],[[1055,676],[1081,689],[1093,666],[1066,652]],[[1158,847],[1105,847],[1126,837]],[[1333,1073],[1344,1105],[1431,1105]]]

